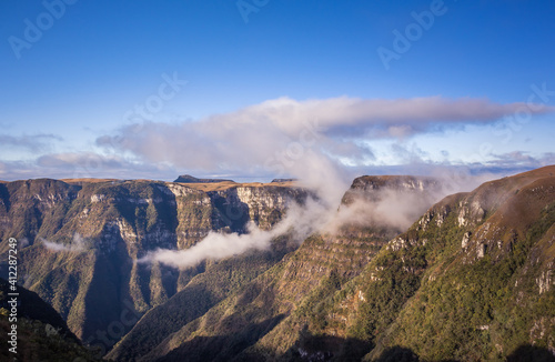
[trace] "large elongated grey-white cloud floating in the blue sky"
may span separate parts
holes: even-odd
[[[124,127],[117,135],[100,137],[97,144],[193,170],[281,168],[294,174],[290,164],[297,163],[300,154],[304,157],[309,150],[332,162],[342,158],[372,160],[374,153],[362,139],[403,138],[438,125],[488,123],[523,107],[527,105],[442,97],[280,98],[193,122]],[[536,113],[554,111],[547,105],[533,109]]]

